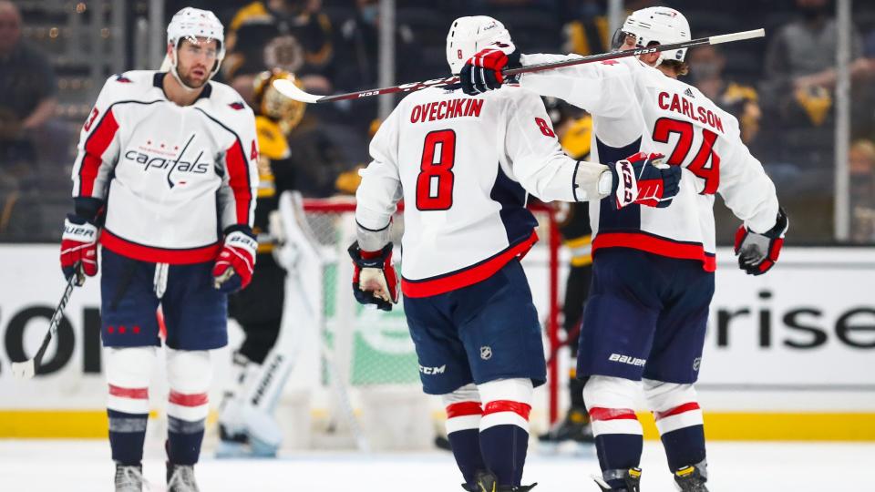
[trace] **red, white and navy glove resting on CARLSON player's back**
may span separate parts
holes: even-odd
[[[608,166],[613,175],[611,203],[615,210],[638,204],[668,207],[680,191],[681,168],[660,166],[662,154],[638,152]]]

